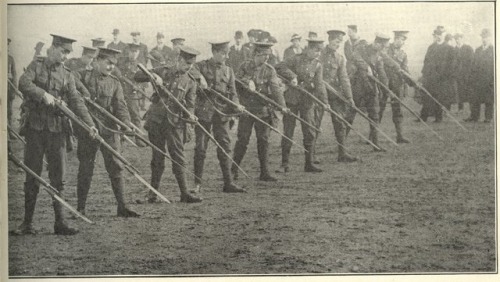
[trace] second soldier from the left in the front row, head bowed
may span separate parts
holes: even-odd
[[[90,98],[99,106],[108,110],[116,118],[125,124],[130,124],[130,115],[127,110],[127,104],[123,96],[122,86],[117,77],[111,72],[117,63],[116,55],[120,51],[107,48],[99,48],[95,68],[88,70],[83,78],[83,83],[90,92]],[[120,151],[121,138],[118,132],[118,126],[109,120],[94,120],[98,124],[99,132],[103,139],[111,145],[116,151]],[[78,142],[78,168],[77,196],[78,211],[85,214],[85,203],[92,182],[94,173],[94,163],[100,144],[89,138],[79,139]],[[111,188],[115,194],[118,203],[117,215],[120,217],[137,217],[134,211],[127,208],[123,197],[123,164],[108,150],[101,150],[104,158],[104,165],[111,180]]]

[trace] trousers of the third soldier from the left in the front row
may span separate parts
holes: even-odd
[[[183,142],[184,130],[185,128],[172,125],[166,120],[162,124],[151,122],[148,127],[149,141],[162,151],[165,151],[165,145],[167,146],[170,158],[173,160],[172,173],[177,180],[181,194],[187,193],[186,174],[184,171],[186,167]],[[165,170],[165,156],[153,149],[152,153],[151,186],[158,190],[163,171]],[[150,192],[149,195],[156,197],[153,192]]]

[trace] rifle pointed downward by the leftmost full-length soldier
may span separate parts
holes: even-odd
[[[69,119],[71,119],[76,124],[80,125],[80,127],[82,127],[85,131],[91,134],[90,127],[87,124],[85,124],[85,122],[83,122],[79,117],[77,117],[70,109],[68,109],[60,100],[56,100],[54,105],[59,110],[61,110]],[[162,199],[163,201],[170,203],[170,201],[165,196],[163,196],[160,192],[158,192],[155,188],[153,188],[153,186],[151,186],[146,180],[144,180],[144,178],[142,178],[139,175],[139,171],[137,170],[137,168],[132,166],[132,164],[129,161],[127,161],[122,155],[120,155],[120,153],[115,151],[106,141],[104,141],[104,139],[100,135],[96,135],[95,139],[105,149],[107,149],[111,154],[113,154],[113,156],[115,156],[118,160],[120,160],[123,163],[125,169],[127,169],[137,180],[139,180],[144,186],[146,186],[146,188],[148,188],[153,193],[158,195],[158,197],[160,197],[160,199]]]

